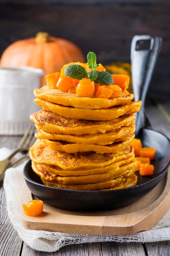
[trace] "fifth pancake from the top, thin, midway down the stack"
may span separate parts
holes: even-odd
[[[94,151],[96,153],[119,153],[127,148],[135,135],[127,137],[124,141],[115,142],[108,145],[96,145],[96,144],[77,144],[68,143],[66,141],[52,141],[49,139],[43,140],[51,150],[61,151],[66,153],[78,153],[78,152],[90,152]]]

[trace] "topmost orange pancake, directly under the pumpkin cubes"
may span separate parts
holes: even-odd
[[[50,89],[47,85],[43,86],[41,89],[35,89],[34,96],[37,99],[43,99],[63,106],[88,109],[101,109],[126,105],[134,98],[134,95],[128,92],[122,93],[119,97],[113,99],[79,97],[74,93],[62,92],[58,89]]]

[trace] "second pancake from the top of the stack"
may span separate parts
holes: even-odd
[[[122,115],[130,115],[139,112],[141,101],[132,101],[125,106],[115,106],[107,109],[86,109],[65,107],[49,101],[35,99],[35,103],[44,110],[57,113],[67,118],[105,121]]]

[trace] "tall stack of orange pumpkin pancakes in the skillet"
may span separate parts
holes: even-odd
[[[30,148],[32,168],[48,186],[76,190],[122,189],[137,183],[134,102],[127,91],[113,99],[34,90],[40,110],[31,114],[40,139]]]

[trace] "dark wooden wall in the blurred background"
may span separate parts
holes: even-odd
[[[0,0],[0,55],[16,40],[38,31],[66,38],[97,62],[130,62],[132,37],[162,36],[150,91],[170,96],[170,0]]]

